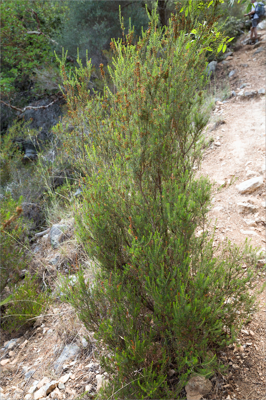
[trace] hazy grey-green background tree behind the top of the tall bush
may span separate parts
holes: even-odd
[[[77,47],[82,60],[85,60],[86,50],[91,54],[91,62],[97,67],[101,62],[106,64],[107,59],[103,50],[110,49],[111,38],[118,38],[120,25],[118,19],[119,4],[125,20],[128,24],[129,16],[133,18],[135,33],[141,34],[141,26],[147,25],[147,15],[139,1],[125,0],[114,1],[67,1],[71,12],[67,16],[62,34],[58,37],[58,43],[68,49],[68,54],[76,59]]]

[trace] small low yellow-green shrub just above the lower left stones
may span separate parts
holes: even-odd
[[[48,306],[48,292],[40,292],[37,274],[26,274],[24,282],[13,288],[12,300],[6,303],[6,315],[2,318],[2,327],[10,333],[22,326],[33,326],[35,317],[43,314]],[[3,322],[4,320],[4,322]]]

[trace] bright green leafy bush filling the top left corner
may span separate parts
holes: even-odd
[[[51,63],[51,36],[63,26],[64,6],[56,3],[0,2],[2,96],[28,92],[34,70]]]

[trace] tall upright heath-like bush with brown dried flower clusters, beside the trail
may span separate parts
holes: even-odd
[[[191,374],[213,372],[209,350],[233,340],[254,311],[255,251],[228,241],[214,253],[212,186],[195,175],[209,117],[204,51],[218,37],[218,2],[182,4],[187,10],[177,8],[165,31],[153,11],[137,45],[131,26],[123,42],[112,40],[115,89],[105,84],[102,97],[89,97],[88,60],[73,77],[61,60],[74,128],[54,130],[84,174],[76,231],[99,265],[91,286],[81,272],[64,294],[106,346],[106,397],[180,398]],[[208,24],[197,22],[199,9]],[[105,81],[103,65],[101,74]]]

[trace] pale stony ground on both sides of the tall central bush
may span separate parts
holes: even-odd
[[[216,225],[214,246],[226,237],[237,244],[248,237],[254,246],[265,248],[265,32],[260,37],[256,48],[239,42],[225,62],[217,64],[216,82],[212,80],[216,108],[206,129],[209,146],[200,172],[210,176],[217,188],[226,189],[215,194],[209,212],[211,224]],[[232,93],[226,102],[221,101],[223,90]],[[230,185],[232,177],[238,179]],[[249,179],[252,182],[243,184]],[[52,250],[50,232],[36,238],[32,248],[32,268],[42,269],[44,282],[54,288],[57,270],[66,274],[70,268],[74,274],[75,259],[82,259],[82,248],[71,236],[71,221],[61,225],[66,225],[68,240],[60,248]],[[87,271],[88,279],[89,265]],[[264,281],[263,270],[258,283]],[[81,326],[75,312],[59,301],[56,290],[53,295],[55,302],[32,331],[6,341],[1,336],[1,399],[78,399],[85,391],[83,398],[92,398],[107,381],[97,361],[105,349]],[[217,354],[228,368],[226,374],[212,377],[206,398],[266,397],[265,292],[258,304],[259,311],[242,326],[236,342]]]

